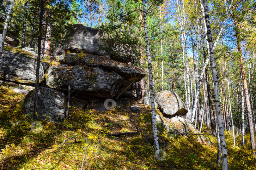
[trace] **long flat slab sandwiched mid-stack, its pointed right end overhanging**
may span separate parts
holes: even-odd
[[[92,54],[69,53],[61,56],[59,60],[70,65],[88,65],[114,71],[130,82],[139,82],[146,76],[146,72],[138,67]]]

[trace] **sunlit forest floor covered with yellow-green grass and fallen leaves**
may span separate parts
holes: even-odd
[[[167,157],[157,161],[150,106],[139,101],[127,101],[111,111],[82,110],[70,107],[70,115],[61,123],[40,122],[31,130],[31,115],[22,110],[23,94],[0,87],[0,169],[221,169],[216,167],[217,141],[198,141],[194,135],[168,138],[158,125],[159,144]],[[140,105],[140,113],[126,111],[128,105]],[[160,113],[159,110],[157,112]],[[42,127],[40,126],[42,125]],[[210,130],[203,127],[203,133]],[[141,132],[135,135],[107,136],[102,132]],[[229,169],[256,169],[256,157],[250,150],[249,134],[245,147],[241,135],[233,138],[225,133]],[[69,137],[76,137],[64,140]]]

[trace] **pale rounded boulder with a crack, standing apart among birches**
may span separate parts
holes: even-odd
[[[180,99],[178,94],[172,91],[163,90],[156,93],[155,102],[163,113],[169,116],[173,116],[175,114],[185,116],[188,112],[186,105]]]

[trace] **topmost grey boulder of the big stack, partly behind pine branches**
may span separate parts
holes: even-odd
[[[111,37],[107,37],[104,31],[82,24],[73,25],[73,28],[65,36],[63,45],[56,52],[58,53],[60,50],[101,55],[125,63],[131,62],[131,58],[135,57],[128,45],[117,44]]]

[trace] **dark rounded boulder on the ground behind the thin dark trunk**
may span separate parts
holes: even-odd
[[[23,101],[25,114],[33,113],[35,90],[26,94]],[[64,120],[65,95],[51,88],[39,87],[38,119],[48,122],[60,122]]]

